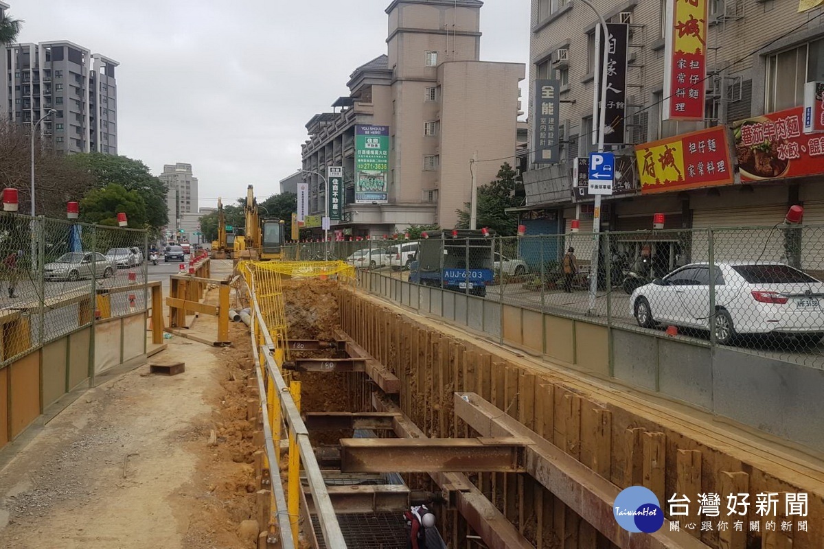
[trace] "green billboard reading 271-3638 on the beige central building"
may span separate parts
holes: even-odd
[[[355,126],[355,202],[389,202],[389,126]]]

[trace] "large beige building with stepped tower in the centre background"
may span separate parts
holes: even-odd
[[[332,221],[337,237],[454,226],[456,210],[471,199],[473,156],[478,184],[494,179],[503,161],[514,165],[526,68],[480,61],[482,5],[391,2],[387,53],[357,67],[349,95],[307,123],[303,170],[325,177],[330,166],[343,167],[342,212]],[[323,215],[323,178],[303,179],[310,212]]]

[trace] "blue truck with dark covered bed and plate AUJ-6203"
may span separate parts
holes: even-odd
[[[485,297],[494,280],[492,231],[437,230],[420,241],[410,282]]]

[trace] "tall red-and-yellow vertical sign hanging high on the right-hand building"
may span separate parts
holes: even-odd
[[[664,120],[704,119],[707,2],[667,0]]]

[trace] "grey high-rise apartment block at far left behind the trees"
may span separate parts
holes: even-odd
[[[36,123],[54,109],[39,129],[55,151],[118,153],[117,61],[68,40],[3,49],[0,105],[9,120]]]

